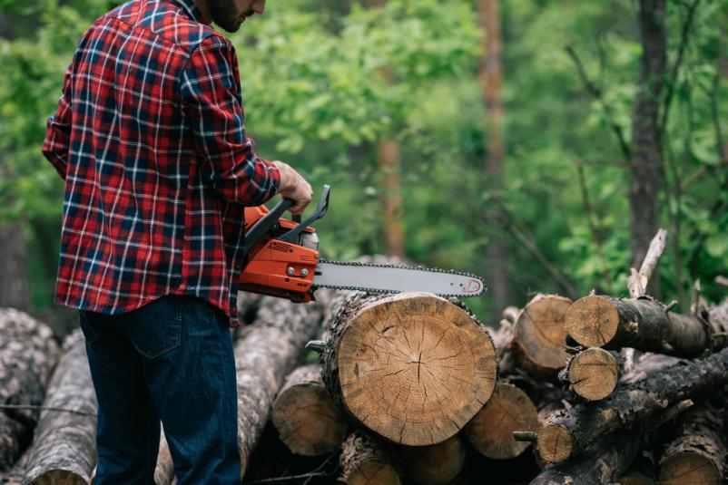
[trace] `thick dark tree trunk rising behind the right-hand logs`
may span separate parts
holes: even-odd
[[[664,0],[640,0],[642,58],[635,94],[629,180],[630,250],[632,267],[644,259],[660,220],[658,195],[664,179],[662,133],[658,115],[666,75],[667,34]],[[659,277],[650,293],[660,296]]]

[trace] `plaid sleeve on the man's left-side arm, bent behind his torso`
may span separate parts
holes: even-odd
[[[65,179],[68,166],[68,148],[71,139],[72,111],[71,99],[71,73],[72,65],[68,66],[64,75],[64,86],[61,99],[58,101],[58,110],[48,118],[46,123],[43,154],[53,164],[58,175]]]

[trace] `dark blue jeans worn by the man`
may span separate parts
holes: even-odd
[[[94,483],[154,484],[160,421],[178,483],[239,484],[238,402],[228,322],[195,296],[119,315],[79,311],[99,403]]]

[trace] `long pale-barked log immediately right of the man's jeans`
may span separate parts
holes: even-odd
[[[243,327],[235,345],[238,378],[238,432],[241,473],[271,414],[276,393],[298,364],[305,344],[316,335],[321,309],[264,297],[253,325]]]

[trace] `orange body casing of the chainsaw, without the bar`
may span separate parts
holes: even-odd
[[[265,206],[245,208],[245,231],[269,213]],[[296,303],[313,300],[313,276],[319,261],[317,249],[277,239],[281,234],[296,228],[298,223],[279,218],[271,231],[262,236],[247,257],[239,280],[241,291],[288,298]],[[310,237],[316,231],[304,228],[300,238]]]

